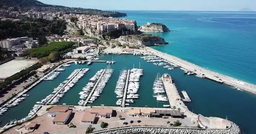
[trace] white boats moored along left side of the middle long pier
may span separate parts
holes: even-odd
[[[83,106],[84,105],[84,102],[86,102],[85,99],[87,99],[87,97],[91,93],[92,88],[96,84],[97,80],[100,78],[100,76],[103,73],[103,71],[104,71],[104,69],[100,69],[99,71],[97,71],[96,74],[93,77],[91,77],[91,79],[89,79],[89,82],[82,89],[83,91],[79,92],[80,99],[82,99],[82,100],[80,100],[78,102],[79,106]]]

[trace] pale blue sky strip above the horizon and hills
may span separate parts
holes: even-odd
[[[256,11],[256,0],[39,0],[46,4],[102,10]]]

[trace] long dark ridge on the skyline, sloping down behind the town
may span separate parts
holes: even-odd
[[[52,11],[61,12],[63,14],[88,14],[100,15],[103,17],[125,17],[126,13],[119,13],[115,11],[102,11],[99,9],[86,9],[86,8],[71,8],[59,5],[49,5],[37,0],[1,0],[1,9],[9,9],[11,11]]]

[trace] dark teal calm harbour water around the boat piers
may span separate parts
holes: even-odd
[[[104,104],[105,106],[115,106],[117,101],[114,93],[115,85],[121,69],[131,69],[133,64],[135,68],[140,67],[143,69],[143,77],[140,79],[140,89],[138,94],[140,97],[135,100],[131,106],[138,107],[162,107],[163,102],[157,102],[156,98],[152,97],[152,86],[156,74],[169,73],[175,81],[179,91],[185,90],[190,96],[192,102],[186,103],[189,109],[195,113],[200,113],[205,116],[213,117],[228,117],[229,120],[237,123],[246,134],[254,134],[252,129],[255,125],[256,117],[256,96],[246,93],[244,91],[237,91],[233,88],[213,82],[207,79],[201,79],[196,76],[185,76],[181,69],[167,70],[163,66],[155,66],[152,63],[147,63],[138,56],[133,55],[114,55],[114,60],[117,61],[112,68],[114,73],[104,88],[99,98],[92,104],[93,106]],[[100,60],[112,60],[112,55],[101,55]],[[11,119],[20,119],[25,117],[32,106],[45,96],[52,93],[53,88],[57,87],[68,77],[71,72],[76,68],[90,68],[90,70],[81,78],[76,85],[69,90],[58,104],[66,103],[67,105],[77,105],[80,100],[78,93],[87,84],[89,79],[99,69],[106,68],[106,63],[92,63],[91,66],[87,64],[75,65],[71,64],[66,67],[66,70],[52,81],[42,81],[31,91],[30,95],[18,106],[9,109],[3,116],[0,117],[2,121],[1,126],[8,123]],[[250,120],[249,120],[250,119]],[[245,123],[246,122],[246,123]]]

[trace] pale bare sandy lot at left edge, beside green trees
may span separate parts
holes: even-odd
[[[38,60],[11,60],[0,65],[0,79],[5,79],[7,77],[12,76],[20,72],[23,69],[26,69],[34,64],[36,64]]]

